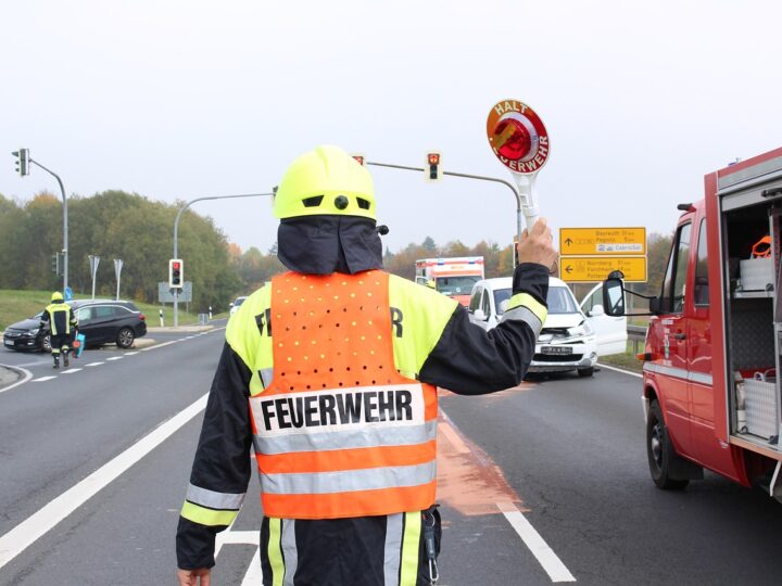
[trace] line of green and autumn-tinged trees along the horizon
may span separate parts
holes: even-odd
[[[123,259],[121,296],[157,303],[157,282],[167,280],[173,251],[174,219],[185,202],[166,204],[138,193],[104,191],[89,198],[68,198],[68,284],[78,293],[91,291],[89,255],[98,255],[96,293],[116,291],[112,259]],[[215,227],[212,218],[187,209],[179,220],[178,249],[185,259],[185,280],[193,283],[193,307],[226,307],[285,269],[276,245],[267,252],[242,251]],[[633,289],[655,294],[665,272],[671,237],[648,238],[648,282]],[[0,194],[0,289],[56,290],[62,278],[52,270],[52,256],[62,250],[62,203],[41,192],[26,203]],[[482,256],[487,278],[513,273],[510,244],[481,241],[468,246],[456,240],[439,246],[426,237],[396,252],[388,247],[383,266],[406,279],[415,277],[418,258]],[[585,292],[585,285],[577,285]],[[591,286],[591,285],[589,285]]]

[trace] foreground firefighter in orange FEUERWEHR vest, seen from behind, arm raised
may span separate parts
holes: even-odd
[[[415,586],[438,577],[437,386],[516,386],[546,317],[556,257],[540,220],[487,332],[429,288],[382,270],[373,180],[319,146],[274,202],[290,269],[228,322],[177,531],[181,585],[209,584],[254,448],[266,586]]]

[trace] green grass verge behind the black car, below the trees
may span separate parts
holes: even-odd
[[[91,295],[75,294],[75,300],[89,300]],[[105,297],[100,297],[105,298]],[[43,309],[51,300],[51,291],[22,291],[12,289],[0,289],[0,331],[11,323],[21,321],[36,315]],[[129,300],[133,301],[133,300]],[[147,324],[150,327],[160,326],[160,310],[163,309],[163,321],[166,327],[174,324],[174,307],[154,305],[134,301],[139,310],[147,316]],[[179,304],[179,324],[187,326],[198,323],[198,311],[188,313],[185,304]],[[212,314],[213,319],[228,317],[228,311]]]

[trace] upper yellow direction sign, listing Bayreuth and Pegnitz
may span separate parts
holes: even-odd
[[[560,228],[559,254],[645,255],[646,228]]]

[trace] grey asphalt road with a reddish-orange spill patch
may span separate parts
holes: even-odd
[[[81,370],[49,380],[48,357],[0,353],[31,373],[0,392],[0,545],[12,535],[20,549],[3,565],[0,547],[1,585],[174,584],[202,415],[177,413],[207,392],[223,332],[154,337],[88,351]],[[607,369],[484,397],[443,392],[439,584],[778,584],[782,505],[708,473],[682,493],[655,488],[639,393],[638,378]],[[150,433],[162,440],[139,455]],[[103,473],[125,450],[138,461]],[[255,479],[249,494],[215,584],[249,583],[256,569]]]

